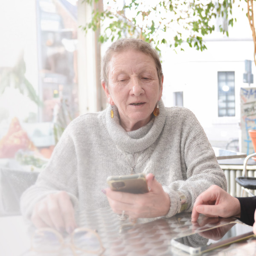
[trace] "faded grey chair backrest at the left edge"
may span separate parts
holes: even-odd
[[[38,174],[0,167],[0,215],[20,215],[20,197]]]

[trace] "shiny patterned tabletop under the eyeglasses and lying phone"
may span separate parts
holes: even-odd
[[[191,222],[191,213],[180,213],[172,218],[138,219],[132,224],[121,221],[110,208],[93,212],[80,212],[79,227],[97,230],[105,252],[104,256],[188,256],[171,246],[170,241],[177,236],[185,236],[207,230],[217,225],[237,221],[236,218],[207,218],[200,215],[197,222]],[[239,222],[239,221],[238,221]],[[25,228],[21,216],[0,218],[0,251],[5,256],[38,256],[30,248],[33,227]],[[47,243],[44,244],[47,246]],[[48,254],[47,254],[48,255]],[[72,250],[64,247],[51,256],[72,256]],[[77,255],[93,255],[77,253]],[[256,239],[250,238],[204,253],[203,256],[255,256]]]

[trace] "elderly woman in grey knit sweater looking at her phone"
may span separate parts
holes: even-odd
[[[102,87],[110,106],[79,116],[64,131],[47,168],[21,198],[36,227],[71,232],[75,209],[109,205],[131,218],[171,217],[226,179],[195,115],[165,108],[157,52],[137,39],[111,45],[102,60]],[[113,175],[144,173],[150,191],[106,188]]]

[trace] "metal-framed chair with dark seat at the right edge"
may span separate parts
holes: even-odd
[[[248,195],[250,196],[255,196],[250,190],[251,189],[256,189],[256,177],[248,177],[247,176],[247,161],[251,157],[255,157],[256,153],[249,154],[247,157],[244,159],[244,164],[243,164],[243,172],[242,176],[236,177],[236,182],[241,186],[241,196],[244,195],[244,192],[247,192]]]

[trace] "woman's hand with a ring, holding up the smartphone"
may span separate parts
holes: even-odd
[[[125,211],[125,215],[131,219],[166,215],[171,204],[169,195],[164,192],[162,185],[157,182],[153,174],[148,174],[146,180],[150,191],[145,194],[116,192],[110,188],[103,189],[113,212],[122,214]]]

